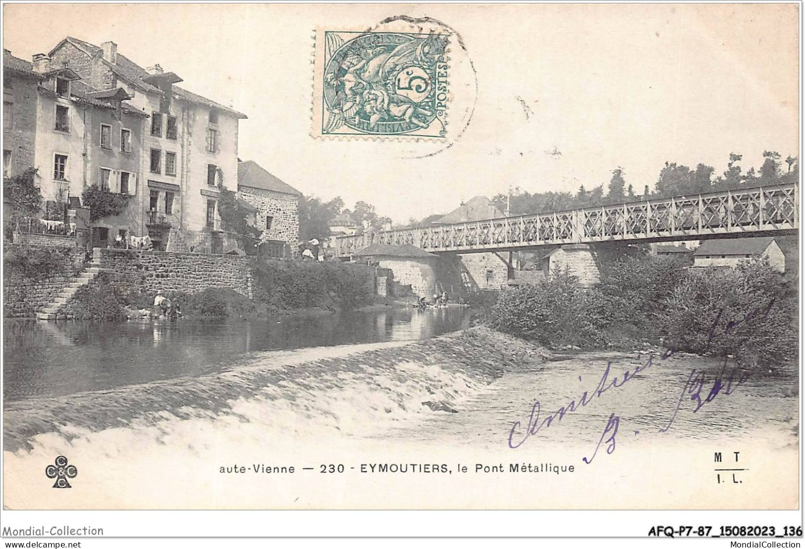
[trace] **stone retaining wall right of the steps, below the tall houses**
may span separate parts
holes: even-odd
[[[229,288],[251,296],[254,258],[249,256],[108,248],[96,248],[93,253],[101,268],[108,270],[114,286],[189,294],[206,288]]]

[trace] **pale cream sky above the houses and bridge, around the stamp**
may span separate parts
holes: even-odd
[[[450,52],[448,141],[313,138],[316,29],[399,14],[464,45]],[[3,47],[30,60],[67,35],[113,40],[245,113],[241,159],[404,223],[516,187],[608,184],[615,167],[639,193],[665,162],[720,173],[730,152],[745,169],[763,151],[798,155],[798,19],[795,4],[6,4]]]

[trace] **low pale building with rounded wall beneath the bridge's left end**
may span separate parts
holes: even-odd
[[[369,244],[353,254],[356,262],[368,262],[394,272],[394,282],[411,286],[411,291],[420,297],[430,297],[436,292],[436,270],[439,256],[421,250],[411,244]]]

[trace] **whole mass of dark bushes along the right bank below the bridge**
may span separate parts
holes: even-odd
[[[668,349],[733,356],[771,366],[797,354],[797,288],[766,260],[687,269],[674,258],[638,256],[605,266],[601,284],[577,286],[555,271],[537,286],[504,291],[488,324],[553,348]]]

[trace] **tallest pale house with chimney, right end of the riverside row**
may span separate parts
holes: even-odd
[[[237,126],[246,115],[181,89],[180,76],[159,64],[142,68],[114,42],[96,46],[68,36],[43,58],[80,76],[97,92],[87,93],[90,99],[126,93],[127,104],[147,117],[137,143],[142,221],[131,234],[151,237],[160,250],[222,253],[228,238],[218,214],[219,186],[235,189]]]

